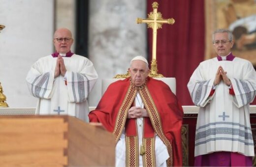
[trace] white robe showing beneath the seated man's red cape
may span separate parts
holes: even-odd
[[[135,106],[144,108],[144,104],[142,102],[142,99],[139,93],[137,93],[135,98]],[[142,138],[143,138],[143,117],[136,118],[136,124],[137,124],[139,152],[140,152],[140,145],[142,144]],[[155,155],[156,155],[156,166],[166,167],[167,166],[166,161],[169,158],[169,153],[167,151],[166,145],[157,135],[155,137]],[[116,167],[126,166],[126,136],[124,131],[116,145],[116,165],[115,166]],[[143,167],[142,155],[139,155],[139,167]]]

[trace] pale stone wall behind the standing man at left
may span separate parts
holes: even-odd
[[[9,107],[35,107],[26,76],[53,51],[53,0],[0,0],[0,82]]]

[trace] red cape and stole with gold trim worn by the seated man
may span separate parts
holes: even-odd
[[[135,87],[130,78],[120,80],[108,86],[96,110],[89,114],[90,122],[100,122],[119,140],[125,128],[128,155],[127,165],[136,166],[138,146],[136,119],[127,118],[128,110],[133,106],[134,98],[139,93],[149,117],[144,117],[143,142],[146,166],[154,166],[155,135],[166,145],[169,159],[167,166],[182,166],[181,127],[183,110],[169,86],[162,81],[147,78],[147,82]]]

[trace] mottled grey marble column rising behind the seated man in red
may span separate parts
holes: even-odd
[[[99,75],[90,106],[101,97],[101,79],[127,73],[134,56],[147,57],[146,24],[136,23],[146,13],[146,0],[90,0],[89,58]]]

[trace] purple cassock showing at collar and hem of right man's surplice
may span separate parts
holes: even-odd
[[[219,61],[222,61],[221,56],[217,56]],[[230,53],[226,56],[227,61],[232,61],[235,56]],[[245,167],[253,166],[253,157],[247,157],[237,152],[214,152],[205,155],[199,155],[194,158],[195,167]]]

